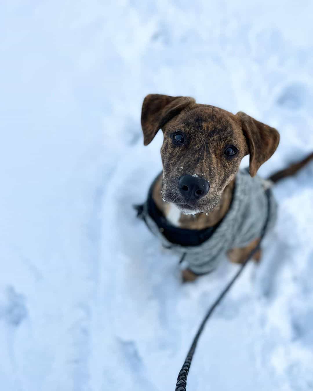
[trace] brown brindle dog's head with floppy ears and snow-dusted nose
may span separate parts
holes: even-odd
[[[162,197],[186,214],[212,212],[241,159],[250,154],[255,176],[279,143],[276,129],[190,97],[146,96],[141,124],[144,145],[162,129]]]

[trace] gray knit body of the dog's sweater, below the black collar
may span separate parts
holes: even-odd
[[[187,268],[195,274],[209,273],[226,257],[229,249],[245,247],[260,237],[267,217],[266,233],[272,229],[277,204],[272,190],[266,192],[270,185],[269,181],[257,176],[251,178],[247,170],[240,170],[236,176],[230,209],[211,237],[198,246],[169,242],[149,215],[147,203],[143,205],[143,218],[165,247],[171,248],[181,257],[184,255],[183,261]]]

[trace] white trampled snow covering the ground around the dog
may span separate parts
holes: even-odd
[[[313,3],[7,0],[0,5],[0,389],[174,390],[236,271],[182,284],[136,219],[160,170],[148,93],[277,127],[268,175],[313,150]],[[161,133],[161,132],[160,132]],[[188,391],[313,389],[313,165],[201,337]]]

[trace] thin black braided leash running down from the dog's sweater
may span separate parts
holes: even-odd
[[[268,201],[268,208],[267,208],[267,211],[268,211],[268,214],[267,214],[267,217],[266,217],[266,221],[265,221],[265,224],[264,224],[264,227],[263,227],[263,230],[261,232],[261,237],[260,237],[260,241],[259,241],[259,244],[257,245],[257,247],[255,249],[253,249],[250,254],[246,257],[245,261],[243,262],[243,264],[241,265],[241,267],[239,268],[239,270],[237,271],[237,273],[234,275],[234,277],[230,280],[230,282],[228,282],[228,284],[226,285],[225,289],[223,289],[223,291],[221,292],[221,294],[219,294],[218,298],[214,301],[214,303],[211,305],[211,307],[209,308],[207,314],[205,315],[199,329],[198,329],[198,332],[197,334],[195,335],[193,341],[192,341],[192,344],[191,344],[191,347],[189,349],[189,352],[187,354],[187,357],[185,359],[185,362],[183,363],[183,366],[182,366],[182,369],[180,369],[179,373],[178,373],[178,377],[177,377],[177,382],[176,382],[176,387],[175,387],[175,391],[186,391],[186,385],[187,385],[187,376],[188,376],[188,372],[189,372],[189,369],[190,369],[190,366],[191,366],[191,361],[192,361],[192,357],[194,355],[194,351],[196,350],[196,346],[197,346],[197,343],[198,343],[198,340],[200,338],[200,335],[201,333],[203,332],[203,329],[204,329],[204,326],[205,324],[207,323],[208,319],[210,318],[210,316],[212,315],[212,313],[214,312],[215,308],[219,305],[219,303],[223,300],[224,296],[227,294],[227,292],[230,290],[230,288],[232,287],[232,285],[234,284],[234,282],[237,280],[237,278],[240,276],[240,274],[242,273],[243,269],[245,268],[246,264],[248,263],[248,261],[250,260],[250,258],[259,250],[260,248],[260,245],[261,245],[261,241],[265,235],[265,232],[266,232],[266,228],[267,228],[267,225],[268,225],[268,221],[270,219],[270,194],[269,194],[269,190],[266,190],[266,195],[267,195],[267,201]]]

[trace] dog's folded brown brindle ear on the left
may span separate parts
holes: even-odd
[[[169,95],[147,95],[142,104],[141,126],[144,132],[144,145],[153,140],[159,129],[171,118],[179,114],[189,104],[196,102],[190,97],[171,97]]]

